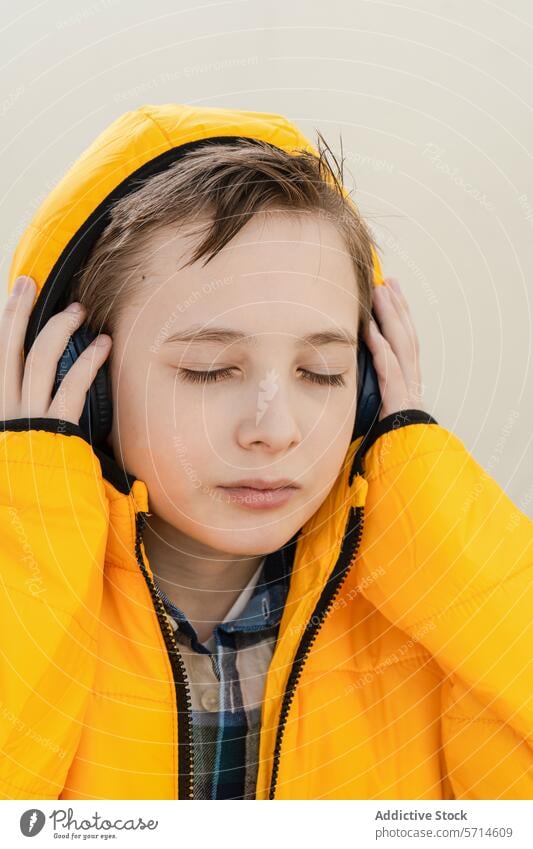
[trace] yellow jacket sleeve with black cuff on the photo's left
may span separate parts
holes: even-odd
[[[109,510],[75,425],[0,422],[0,798],[57,799],[92,686]]]

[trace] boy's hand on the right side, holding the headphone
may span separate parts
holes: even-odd
[[[372,354],[383,401],[379,421],[400,410],[422,409],[420,347],[409,305],[393,277],[374,287],[371,320],[363,338]]]

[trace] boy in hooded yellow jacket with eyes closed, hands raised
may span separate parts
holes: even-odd
[[[6,798],[530,797],[531,523],[420,409],[405,298],[319,162],[280,116],[144,107],[21,241]],[[107,344],[51,397],[83,322]],[[358,338],[383,403],[354,438]]]

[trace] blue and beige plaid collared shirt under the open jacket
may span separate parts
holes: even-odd
[[[289,589],[296,536],[264,558],[205,643],[154,577],[191,690],[194,799],[255,798],[265,677]],[[243,609],[232,617],[250,591]]]

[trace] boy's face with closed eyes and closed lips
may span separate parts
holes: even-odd
[[[357,349],[301,340],[356,338],[355,272],[340,233],[318,216],[256,214],[205,268],[176,271],[196,238],[176,228],[151,238],[139,294],[113,337],[109,441],[146,483],[150,512],[214,550],[264,554],[316,512],[350,444]],[[215,326],[245,339],[195,340],[195,327]],[[171,341],[185,332],[189,341]],[[216,382],[184,378],[218,369],[229,371]],[[313,383],[309,372],[342,375],[343,385]],[[299,488],[260,509],[253,492],[250,506],[223,488],[251,478]]]

